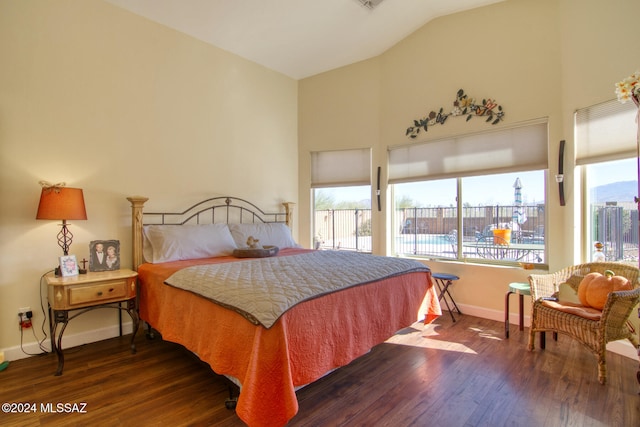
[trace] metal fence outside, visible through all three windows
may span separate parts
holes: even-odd
[[[638,259],[638,210],[634,206],[592,206],[592,239],[604,244],[607,260]],[[543,204],[465,206],[459,236],[456,207],[397,209],[394,251],[436,258],[544,263],[544,210]],[[317,210],[314,227],[317,249],[371,252],[370,209]],[[508,230],[508,241],[494,237],[496,229]]]

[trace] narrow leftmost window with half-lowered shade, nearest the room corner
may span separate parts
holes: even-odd
[[[371,150],[311,153],[316,249],[371,252]]]

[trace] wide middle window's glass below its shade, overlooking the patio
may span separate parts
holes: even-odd
[[[544,177],[539,170],[395,184],[395,253],[543,263]]]

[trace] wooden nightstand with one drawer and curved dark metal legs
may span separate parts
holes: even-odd
[[[134,338],[140,323],[136,293],[136,273],[122,269],[114,271],[89,272],[71,277],[45,275],[49,296],[49,327],[51,330],[51,351],[58,355],[56,375],[62,375],[64,354],[62,335],[73,318],[96,308],[115,308],[126,311],[133,320],[131,353],[136,352]],[[121,303],[125,303],[123,307]],[[80,310],[72,315],[69,312]],[[62,324],[57,333],[58,325]],[[57,337],[56,337],[57,334]],[[120,324],[122,335],[122,322]]]

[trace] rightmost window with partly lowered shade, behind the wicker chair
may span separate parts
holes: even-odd
[[[633,103],[617,100],[576,112],[576,163],[585,170],[587,261],[594,260],[599,242],[606,260],[638,262],[636,112]]]

